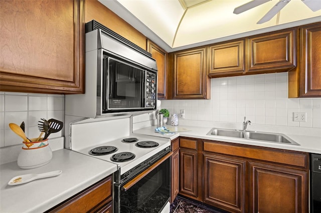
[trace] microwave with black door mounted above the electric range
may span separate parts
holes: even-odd
[[[156,109],[151,54],[95,20],[86,23],[85,94],[65,96],[65,114],[95,118]]]

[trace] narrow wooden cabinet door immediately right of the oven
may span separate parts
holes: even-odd
[[[180,150],[177,149],[172,155],[172,190],[171,190],[171,203],[174,201],[180,191]]]

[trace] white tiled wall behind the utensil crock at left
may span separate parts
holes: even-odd
[[[29,138],[38,137],[40,118],[64,120],[64,95],[0,92],[0,147],[19,144],[22,138],[9,127],[13,122],[25,122],[25,132]],[[63,130],[51,134],[62,136]]]

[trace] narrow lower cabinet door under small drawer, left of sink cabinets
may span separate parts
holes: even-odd
[[[180,193],[198,198],[198,155],[197,151],[180,149]]]

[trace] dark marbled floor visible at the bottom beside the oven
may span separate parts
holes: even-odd
[[[171,213],[224,213],[226,211],[219,211],[202,203],[198,203],[187,199],[185,197],[177,196],[171,204]]]

